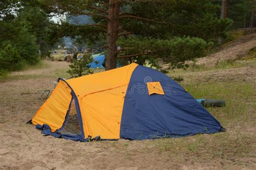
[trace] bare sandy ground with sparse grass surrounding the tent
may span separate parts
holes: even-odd
[[[246,119],[227,119],[225,108],[211,110],[227,128],[224,133],[80,143],[43,136],[35,126],[26,124],[45,102],[34,94],[36,90],[52,90],[55,77],[66,76],[68,63],[44,63],[43,68],[15,72],[0,82],[0,169],[256,169],[255,91],[248,92],[246,101],[251,107],[244,113]],[[255,85],[256,65],[183,76],[184,84],[194,82],[195,87],[210,81],[245,82],[251,87]]]

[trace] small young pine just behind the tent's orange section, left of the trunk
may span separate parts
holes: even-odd
[[[93,70],[90,69],[89,63],[93,61],[90,53],[84,54],[83,58],[73,61],[71,65],[69,65],[70,69],[68,73],[71,77],[80,77],[87,74],[92,74]]]

